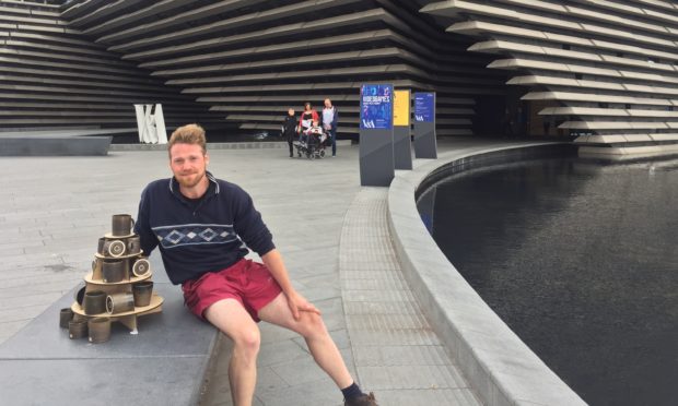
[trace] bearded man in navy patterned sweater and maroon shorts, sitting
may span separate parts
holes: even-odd
[[[375,406],[351,378],[320,311],[290,282],[280,252],[252,198],[207,171],[204,131],[178,128],[168,143],[173,178],[149,183],[135,231],[148,255],[160,248],[167,276],[182,284],[186,306],[233,341],[233,403],[252,405],[260,345],[259,320],[301,334],[318,366],[341,389],[346,405]],[[245,259],[248,250],[264,264]]]

